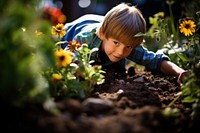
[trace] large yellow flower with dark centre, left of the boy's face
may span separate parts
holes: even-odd
[[[66,67],[72,62],[72,53],[70,51],[56,50],[55,57],[58,67]]]

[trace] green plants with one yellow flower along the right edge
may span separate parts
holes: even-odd
[[[192,103],[192,119],[200,118],[200,11],[192,17],[185,17],[179,21],[180,35],[174,40],[178,44],[173,56],[174,62],[177,61],[183,68],[190,70],[182,85],[182,102]],[[179,50],[176,50],[179,49]],[[171,56],[172,57],[172,56]]]

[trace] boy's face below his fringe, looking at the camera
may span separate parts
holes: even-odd
[[[101,49],[106,53],[112,62],[117,62],[128,57],[134,46],[125,45],[113,38],[103,38]]]

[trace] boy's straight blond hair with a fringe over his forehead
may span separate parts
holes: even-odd
[[[139,9],[121,3],[107,12],[101,31],[107,39],[112,37],[124,44],[138,46],[143,37],[134,35],[146,32],[146,22]]]

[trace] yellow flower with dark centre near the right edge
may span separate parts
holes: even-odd
[[[190,36],[195,32],[195,23],[192,20],[183,20],[179,26],[180,32],[185,36]]]

